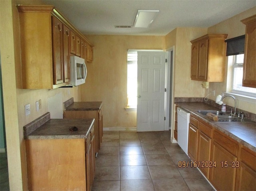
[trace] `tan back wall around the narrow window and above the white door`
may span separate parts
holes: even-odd
[[[127,50],[164,49],[164,36],[86,35],[94,45],[93,63],[81,86],[83,101],[103,102],[104,127],[136,126],[136,111],[126,111]]]

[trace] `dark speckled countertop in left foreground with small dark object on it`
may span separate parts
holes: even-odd
[[[43,122],[42,122],[43,121]],[[94,119],[50,119],[50,113],[24,126],[25,139],[86,139]],[[69,127],[76,126],[77,131]]]

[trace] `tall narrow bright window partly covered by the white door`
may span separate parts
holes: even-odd
[[[137,108],[137,51],[127,52],[127,108]]]

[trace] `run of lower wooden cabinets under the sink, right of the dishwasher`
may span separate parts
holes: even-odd
[[[216,190],[256,190],[256,152],[190,115],[188,156]]]

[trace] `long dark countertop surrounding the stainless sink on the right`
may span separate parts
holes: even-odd
[[[256,152],[256,122],[213,122],[212,120],[201,116],[198,110],[220,110],[204,102],[175,102],[176,106],[195,114],[204,122],[230,136],[237,142]]]

